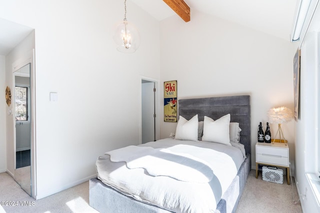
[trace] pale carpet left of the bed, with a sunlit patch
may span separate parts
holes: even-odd
[[[89,182],[35,200],[6,172],[0,173],[0,212],[97,212],[89,206]],[[4,205],[3,205],[4,201]],[[5,201],[8,201],[5,203]]]

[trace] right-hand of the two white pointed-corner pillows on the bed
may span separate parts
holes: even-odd
[[[226,114],[217,120],[204,116],[202,141],[230,144],[229,137],[230,114]]]

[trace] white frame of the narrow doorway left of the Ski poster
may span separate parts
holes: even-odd
[[[142,80],[147,80],[150,82],[154,82],[154,88],[155,88],[155,93],[154,93],[154,111],[155,111],[155,139],[159,139],[160,138],[160,123],[159,123],[159,107],[158,107],[158,103],[159,101],[159,80],[158,79],[154,79],[154,78],[150,78],[150,77],[146,77],[146,76],[140,76],[139,78],[139,144],[142,143]]]

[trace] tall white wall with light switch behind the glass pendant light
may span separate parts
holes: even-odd
[[[141,45],[123,54],[112,40],[123,10],[114,0],[1,1],[2,18],[35,29],[37,198],[95,176],[97,156],[139,141],[140,76],[159,79],[159,24],[127,2]]]

